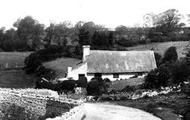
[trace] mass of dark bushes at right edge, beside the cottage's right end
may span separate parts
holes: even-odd
[[[165,52],[160,66],[148,73],[145,79],[145,88],[160,88],[161,86],[170,86],[182,84],[190,77],[189,52],[186,57],[177,60],[175,47],[170,47]]]

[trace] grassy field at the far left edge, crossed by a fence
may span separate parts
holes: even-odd
[[[24,59],[30,53],[0,52],[0,87],[28,88],[34,86],[35,76],[27,75],[22,70]]]

